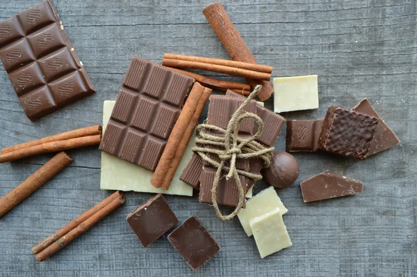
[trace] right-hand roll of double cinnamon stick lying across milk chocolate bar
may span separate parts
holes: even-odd
[[[195,109],[195,113],[193,115],[193,118],[190,120],[190,124],[188,124],[188,127],[186,131],[183,134],[183,138],[181,140],[181,143],[178,145],[177,151],[175,152],[174,159],[172,159],[170,167],[168,168],[165,178],[162,182],[162,188],[167,189],[170,187],[170,184],[172,182],[172,178],[174,177],[177,168],[179,166],[179,163],[181,162],[181,159],[184,155],[184,152],[186,152],[186,148],[188,146],[188,143],[190,143],[191,136],[193,136],[193,132],[195,127],[197,126],[197,122],[199,120],[199,117],[202,115],[204,106],[206,105],[206,102],[208,100],[208,97],[211,95],[210,89],[205,89],[203,91],[202,97],[200,98],[197,108]],[[185,143],[185,141],[187,143]]]

